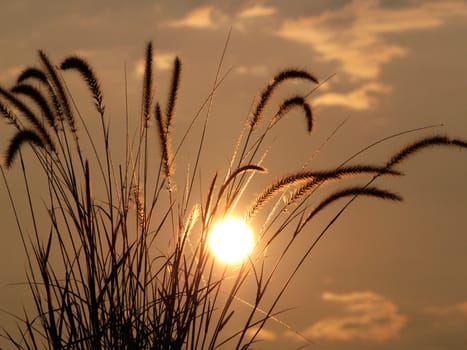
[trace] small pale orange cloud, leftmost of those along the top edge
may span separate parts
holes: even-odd
[[[166,24],[170,27],[216,29],[224,21],[225,15],[214,6],[203,6],[195,8],[184,17],[169,21]]]

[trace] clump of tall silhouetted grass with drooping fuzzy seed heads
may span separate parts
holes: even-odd
[[[398,176],[396,167],[407,157],[433,146],[467,148],[462,140],[434,136],[416,141],[381,164],[342,164],[324,170],[304,169],[274,176],[246,209],[240,199],[250,183],[264,173],[263,142],[270,130],[295,108],[303,111],[306,129],[313,130],[310,100],[295,95],[284,100],[260,129],[265,107],[274,92],[287,82],[301,79],[312,85],[318,79],[305,70],[279,72],[258,95],[241,133],[230,167],[221,176],[207,176],[204,199],[193,199],[193,182],[199,173],[206,124],[198,138],[198,153],[185,185],[176,183],[175,165],[186,135],[194,132],[191,121],[179,144],[172,146],[182,64],[174,68],[166,107],[155,101],[153,52],[149,43],[141,115],[136,130],[126,127],[124,159],[119,161],[110,145],[110,127],[105,115],[104,94],[91,65],[70,56],[59,65],[39,51],[40,68],[29,67],[12,89],[0,88],[0,113],[14,129],[6,150],[4,166],[20,162],[32,234],[24,229],[26,216],[16,208],[4,167],[5,186],[28,259],[28,284],[35,312],[28,310],[19,336],[5,331],[4,337],[19,349],[215,349],[228,346],[246,349],[255,342],[267,322],[275,322],[277,305],[290,282],[320,238],[358,196],[401,200],[391,191],[371,185],[377,178]],[[74,106],[62,77],[76,71],[87,85],[101,121],[102,139],[90,132],[89,120]],[[68,74],[68,72],[67,72]],[[209,104],[218,84],[216,78]],[[30,85],[28,82],[35,82]],[[306,96],[306,95],[304,95]],[[209,115],[208,115],[209,116]],[[127,116],[128,118],[128,116]],[[207,118],[207,117],[206,117]],[[154,120],[157,130],[151,129]],[[207,120],[207,119],[206,119]],[[206,121],[204,122],[206,123]],[[260,131],[262,130],[262,131]],[[130,137],[130,135],[135,135]],[[156,137],[159,151],[151,148]],[[29,145],[31,147],[26,148]],[[121,145],[120,145],[121,146]],[[175,149],[175,152],[172,151]],[[27,166],[23,153],[32,150],[37,163]],[[86,151],[85,151],[86,150]],[[157,156],[159,155],[159,156]],[[33,198],[31,180],[39,169],[44,175],[46,229],[39,224],[38,200]],[[223,175],[223,180],[221,179]],[[346,178],[366,178],[361,185],[344,185],[326,195],[327,185]],[[320,191],[317,204],[310,198]],[[329,224],[309,239],[298,260],[290,260],[290,248],[309,222],[334,202],[351,199]],[[323,198],[322,194],[318,198]],[[41,203],[42,204],[42,203]],[[263,208],[268,215],[259,217]],[[212,225],[238,212],[247,220],[262,220],[257,245],[239,266],[223,266],[207,246]],[[286,236],[279,254],[267,256],[276,238]],[[272,280],[281,266],[289,275],[279,286]],[[249,290],[251,300],[242,297]],[[236,303],[248,305],[239,312]],[[233,328],[232,328],[233,327]],[[232,330],[233,329],[233,330]]]

